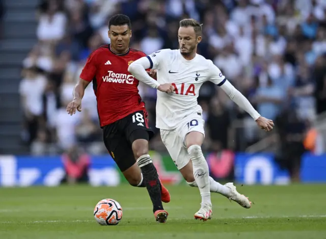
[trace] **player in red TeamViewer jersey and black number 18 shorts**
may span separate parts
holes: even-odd
[[[73,115],[76,110],[81,111],[85,89],[93,82],[105,147],[131,185],[147,188],[156,221],[165,222],[168,213],[161,201],[169,202],[170,194],[161,184],[148,154],[153,131],[148,126],[145,103],[138,93],[139,81],[128,72],[128,66],[146,54],[129,48],[129,17],[113,16],[108,28],[111,44],[97,48],[89,56],[67,112]],[[158,90],[166,92],[168,89],[162,85]]]

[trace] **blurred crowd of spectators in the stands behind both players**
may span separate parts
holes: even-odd
[[[105,152],[92,87],[82,112],[70,116],[65,109],[90,52],[110,43],[107,23],[117,13],[131,19],[131,48],[146,54],[178,48],[179,20],[199,20],[198,54],[211,59],[262,116],[284,126],[282,134],[303,133],[326,111],[324,0],[43,0],[38,44],[23,61],[20,85],[23,138],[33,154],[75,145]],[[156,91],[144,85],[139,91],[155,128]],[[202,86],[198,101],[207,127],[205,150],[243,151],[265,136],[213,84]],[[288,127],[284,115],[301,123]],[[164,150],[159,137],[150,145]]]

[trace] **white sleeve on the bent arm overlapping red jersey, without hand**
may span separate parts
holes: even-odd
[[[140,82],[145,83],[146,85],[157,89],[159,84],[155,79],[150,77],[145,69],[150,67],[150,63],[146,57],[138,59],[137,61],[132,62],[129,67],[128,71],[137,78]]]

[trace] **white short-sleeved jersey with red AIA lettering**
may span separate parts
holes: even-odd
[[[204,82],[222,86],[226,81],[211,60],[198,54],[188,61],[179,49],[162,49],[147,58],[151,68],[157,70],[157,82],[171,83],[175,88],[171,94],[157,91],[156,127],[160,129],[174,129],[188,115],[202,113],[197,98]]]

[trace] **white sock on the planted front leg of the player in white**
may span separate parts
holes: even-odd
[[[199,145],[192,145],[188,148],[188,154],[193,162],[194,177],[202,197],[202,203],[211,204],[209,170],[202,149]]]

